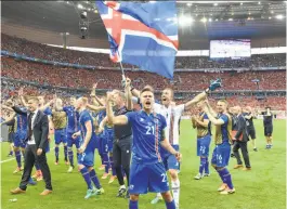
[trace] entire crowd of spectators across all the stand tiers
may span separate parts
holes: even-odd
[[[66,62],[73,64],[93,65],[102,67],[116,67],[108,60],[107,54],[89,53],[80,51],[64,50],[61,48],[48,47],[35,43],[25,39],[11,37],[2,34],[2,50],[23,54],[26,56]],[[162,90],[170,87],[177,92],[181,91],[201,91],[208,87],[210,80],[221,78],[223,87],[220,91],[233,90],[285,90],[286,89],[286,71],[285,70],[248,70],[237,71],[236,68],[249,67],[277,67],[286,66],[286,54],[263,54],[252,55],[250,60],[235,61],[210,61],[208,57],[177,57],[177,68],[193,69],[220,69],[232,68],[235,70],[223,71],[175,71],[173,81],[169,81],[161,76],[146,71],[126,71],[126,76],[131,78],[132,84],[136,89],[142,89],[146,84],[151,84],[155,90]],[[131,67],[123,65],[123,67]],[[93,83],[97,82],[97,89],[112,90],[120,89],[121,73],[120,70],[106,69],[79,69],[61,67],[54,65],[44,65],[26,61],[14,60],[12,57],[2,56],[1,76],[17,80],[17,82],[2,82],[1,97],[6,99],[16,94],[19,86],[25,87],[27,94],[44,94],[47,99],[51,99],[54,93],[63,97],[75,94],[75,89],[90,89]],[[258,79],[256,83],[252,80]],[[26,84],[19,84],[24,81]],[[39,87],[27,84],[35,82]],[[45,86],[53,88],[47,89]],[[43,87],[43,88],[41,88]],[[69,88],[70,91],[60,90],[60,87]],[[185,102],[187,97],[183,97],[178,103]],[[253,107],[263,107],[266,104],[275,106],[277,109],[285,108],[285,97],[269,96],[266,100],[258,101],[248,96],[230,96],[227,97],[231,105],[248,104]]]

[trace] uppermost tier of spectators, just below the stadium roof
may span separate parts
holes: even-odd
[[[92,65],[102,67],[119,67],[109,61],[108,54],[64,50],[49,47],[26,39],[2,36],[2,50],[18,53],[26,56],[56,61],[71,64]],[[245,60],[209,60],[208,56],[178,56],[175,68],[190,69],[221,69],[221,68],[253,68],[253,67],[279,67],[286,66],[286,54],[260,54]],[[131,68],[131,65],[123,65]]]

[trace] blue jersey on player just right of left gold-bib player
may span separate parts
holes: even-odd
[[[79,113],[75,109],[74,106],[65,106],[63,107],[63,110],[67,114],[68,118],[68,126],[67,126],[67,132],[68,133],[75,133],[78,132],[79,129]]]

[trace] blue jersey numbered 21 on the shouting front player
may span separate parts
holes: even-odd
[[[161,162],[160,142],[167,122],[159,114],[147,115],[145,112],[126,114],[132,127],[132,160],[138,164]]]

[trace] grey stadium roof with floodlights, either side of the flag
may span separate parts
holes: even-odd
[[[69,32],[69,43],[74,47],[108,45],[94,1],[2,1],[1,4],[4,34],[61,44],[60,32]],[[87,10],[90,22],[89,38],[76,40],[80,39],[82,10]],[[178,18],[181,49],[207,49],[210,39],[225,38],[282,38],[281,45],[286,42],[284,1],[178,1]]]

